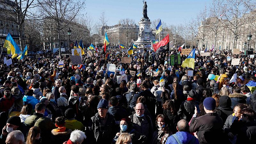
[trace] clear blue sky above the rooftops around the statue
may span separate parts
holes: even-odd
[[[179,24],[195,18],[211,2],[212,0],[147,0],[148,17],[151,21],[160,18],[167,25]],[[105,11],[107,24],[111,26],[123,18],[134,19],[138,24],[143,17],[142,8],[142,0],[86,0],[84,12],[98,20],[100,13]]]

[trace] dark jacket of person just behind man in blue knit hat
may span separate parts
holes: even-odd
[[[116,121],[120,121],[125,116],[129,116],[127,111],[119,106],[112,106],[108,108],[108,113],[114,116]]]

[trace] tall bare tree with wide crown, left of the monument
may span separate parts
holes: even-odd
[[[40,8],[40,16],[43,19],[51,20],[53,27],[51,28],[58,35],[59,55],[60,49],[60,33],[63,28],[75,19],[85,5],[85,0],[37,0]],[[65,22],[62,22],[65,21]]]

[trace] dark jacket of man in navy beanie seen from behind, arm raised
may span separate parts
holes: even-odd
[[[207,113],[197,118],[192,117],[189,130],[197,132],[200,143],[222,143],[224,140],[222,123],[221,117],[216,113]]]

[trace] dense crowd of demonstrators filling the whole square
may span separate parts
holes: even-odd
[[[0,143],[256,143],[255,58],[197,53],[192,69],[181,67],[183,54],[180,64],[168,62],[175,49],[116,51],[85,53],[81,65],[47,53],[12,59],[9,66],[1,60]],[[239,65],[231,65],[235,58]],[[122,75],[127,80],[117,79]]]

